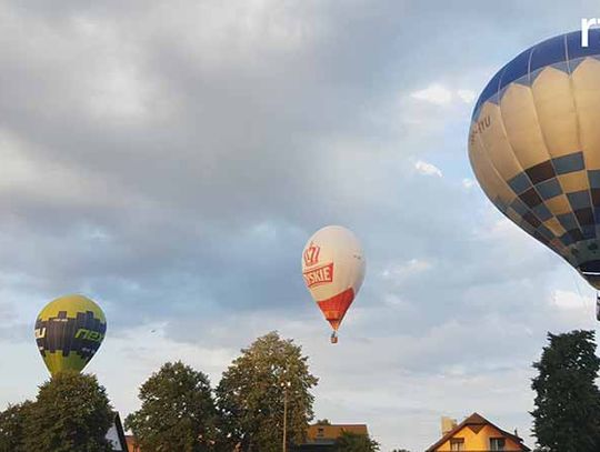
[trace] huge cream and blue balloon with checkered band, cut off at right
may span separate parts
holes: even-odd
[[[600,289],[600,30],[506,64],[474,107],[469,158],[492,203]]]

